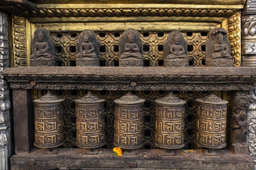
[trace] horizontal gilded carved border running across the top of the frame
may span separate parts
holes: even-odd
[[[111,5],[111,4],[110,4]],[[115,5],[115,4],[113,4]],[[152,4],[152,6],[154,6]],[[230,17],[239,9],[212,8],[44,8],[26,11],[26,18],[52,17]]]

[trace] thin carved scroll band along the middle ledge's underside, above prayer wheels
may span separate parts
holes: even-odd
[[[13,89],[50,89],[50,90],[123,90],[123,91],[233,91],[253,90],[256,83],[141,83],[131,86],[130,83],[73,83],[73,82],[10,82]]]

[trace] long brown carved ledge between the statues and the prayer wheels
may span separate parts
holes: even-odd
[[[252,90],[255,67],[16,67],[3,71],[11,88],[91,90]]]

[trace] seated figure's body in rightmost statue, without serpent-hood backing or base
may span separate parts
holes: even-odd
[[[216,43],[212,45],[212,59],[218,59],[218,58],[226,58],[226,59],[232,59],[232,56],[228,54],[228,47],[227,44],[223,43],[223,35],[218,34],[216,36]]]

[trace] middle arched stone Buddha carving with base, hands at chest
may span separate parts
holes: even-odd
[[[142,65],[140,33],[133,28],[128,28],[119,39],[119,66],[141,67]]]

